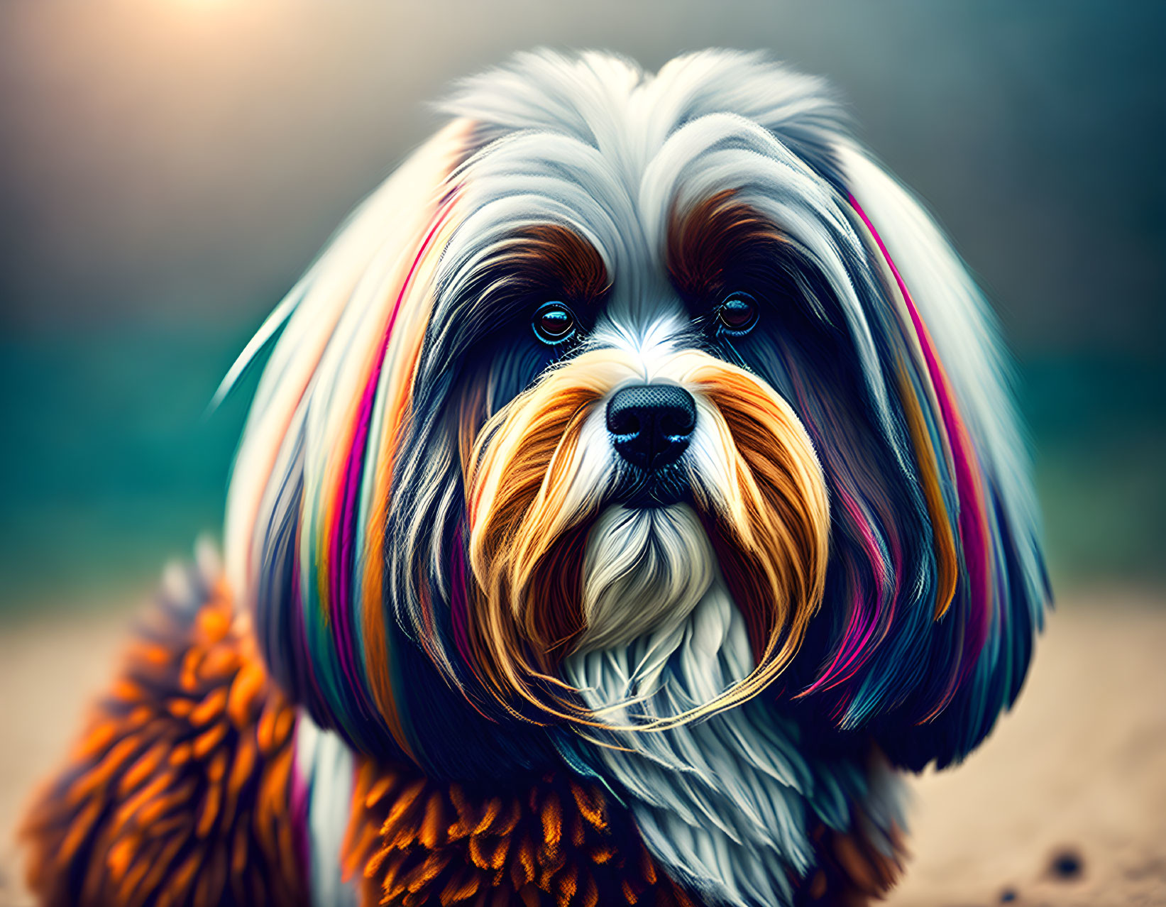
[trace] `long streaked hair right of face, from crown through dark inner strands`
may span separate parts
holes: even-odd
[[[775,338],[823,462],[834,530],[789,689],[897,764],[963,758],[1016,699],[1048,581],[991,310],[922,205],[848,135],[829,89],[731,56],[739,112],[830,184],[854,245],[849,347]],[[780,223],[780,220],[778,220]],[[849,255],[848,255],[849,258]]]

